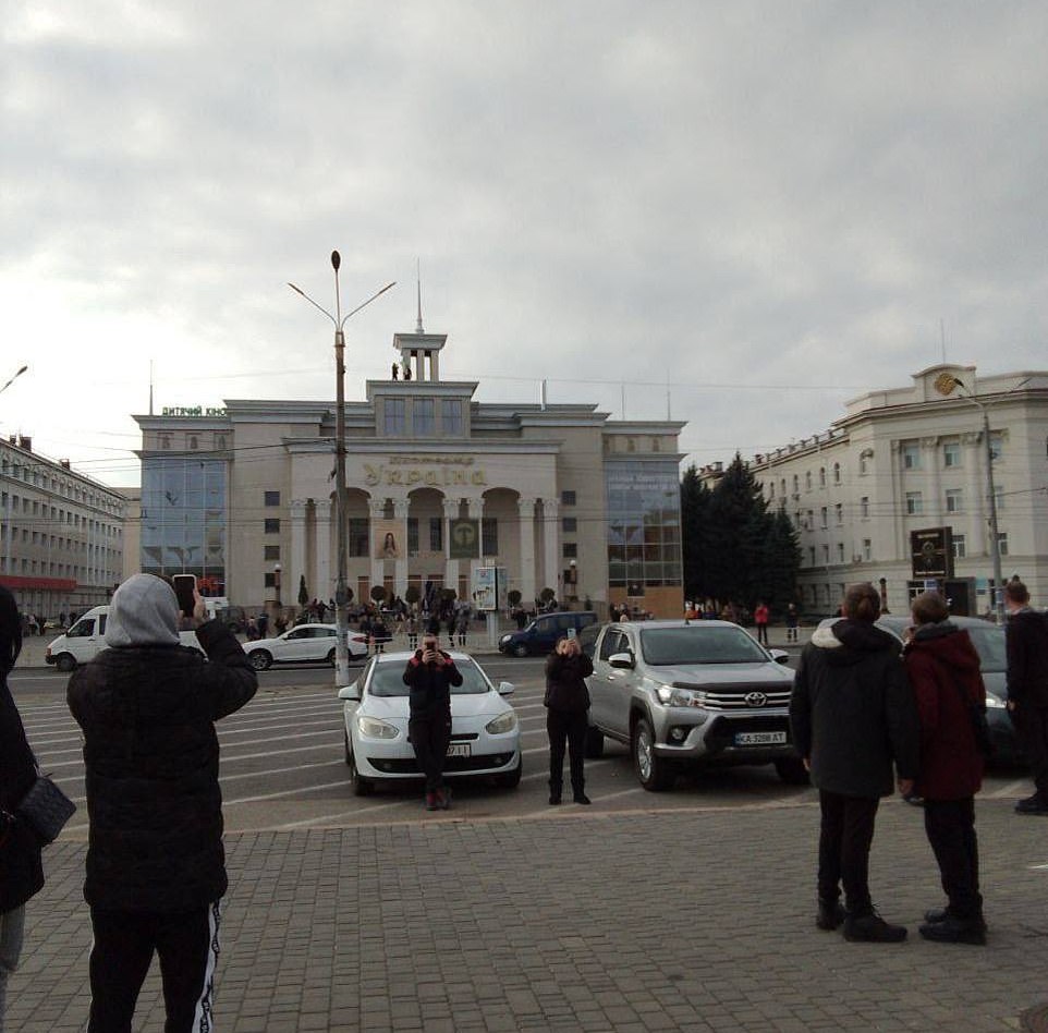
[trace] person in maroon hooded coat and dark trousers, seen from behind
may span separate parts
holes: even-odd
[[[914,627],[903,654],[921,725],[924,827],[939,864],[949,903],[925,914],[925,939],[985,944],[979,894],[975,793],[983,785],[983,755],[975,741],[972,707],[986,707],[979,657],[966,631],[950,623],[938,593],[913,600]]]

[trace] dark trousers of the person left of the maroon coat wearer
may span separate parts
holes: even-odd
[[[852,915],[868,914],[869,848],[877,818],[876,797],[843,797],[819,790],[819,899],[833,902],[844,885],[844,904]]]

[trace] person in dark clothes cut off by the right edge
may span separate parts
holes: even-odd
[[[1008,623],[1008,713],[1034,778],[1034,794],[1015,804],[1019,814],[1048,814],[1048,615],[1029,605],[1021,581],[1004,585]]]

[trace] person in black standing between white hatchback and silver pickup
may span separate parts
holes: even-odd
[[[577,639],[561,639],[546,660],[546,732],[549,736],[549,802],[561,800],[564,782],[564,742],[571,757],[571,788],[575,803],[590,802],[586,795],[583,751],[589,724],[589,690],[585,679],[593,661],[582,652]]]

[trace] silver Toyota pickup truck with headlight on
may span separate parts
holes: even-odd
[[[594,665],[588,756],[600,756],[606,737],[627,744],[653,791],[703,765],[773,764],[783,781],[807,781],[790,739],[784,651],[720,620],[605,624],[580,644]]]

